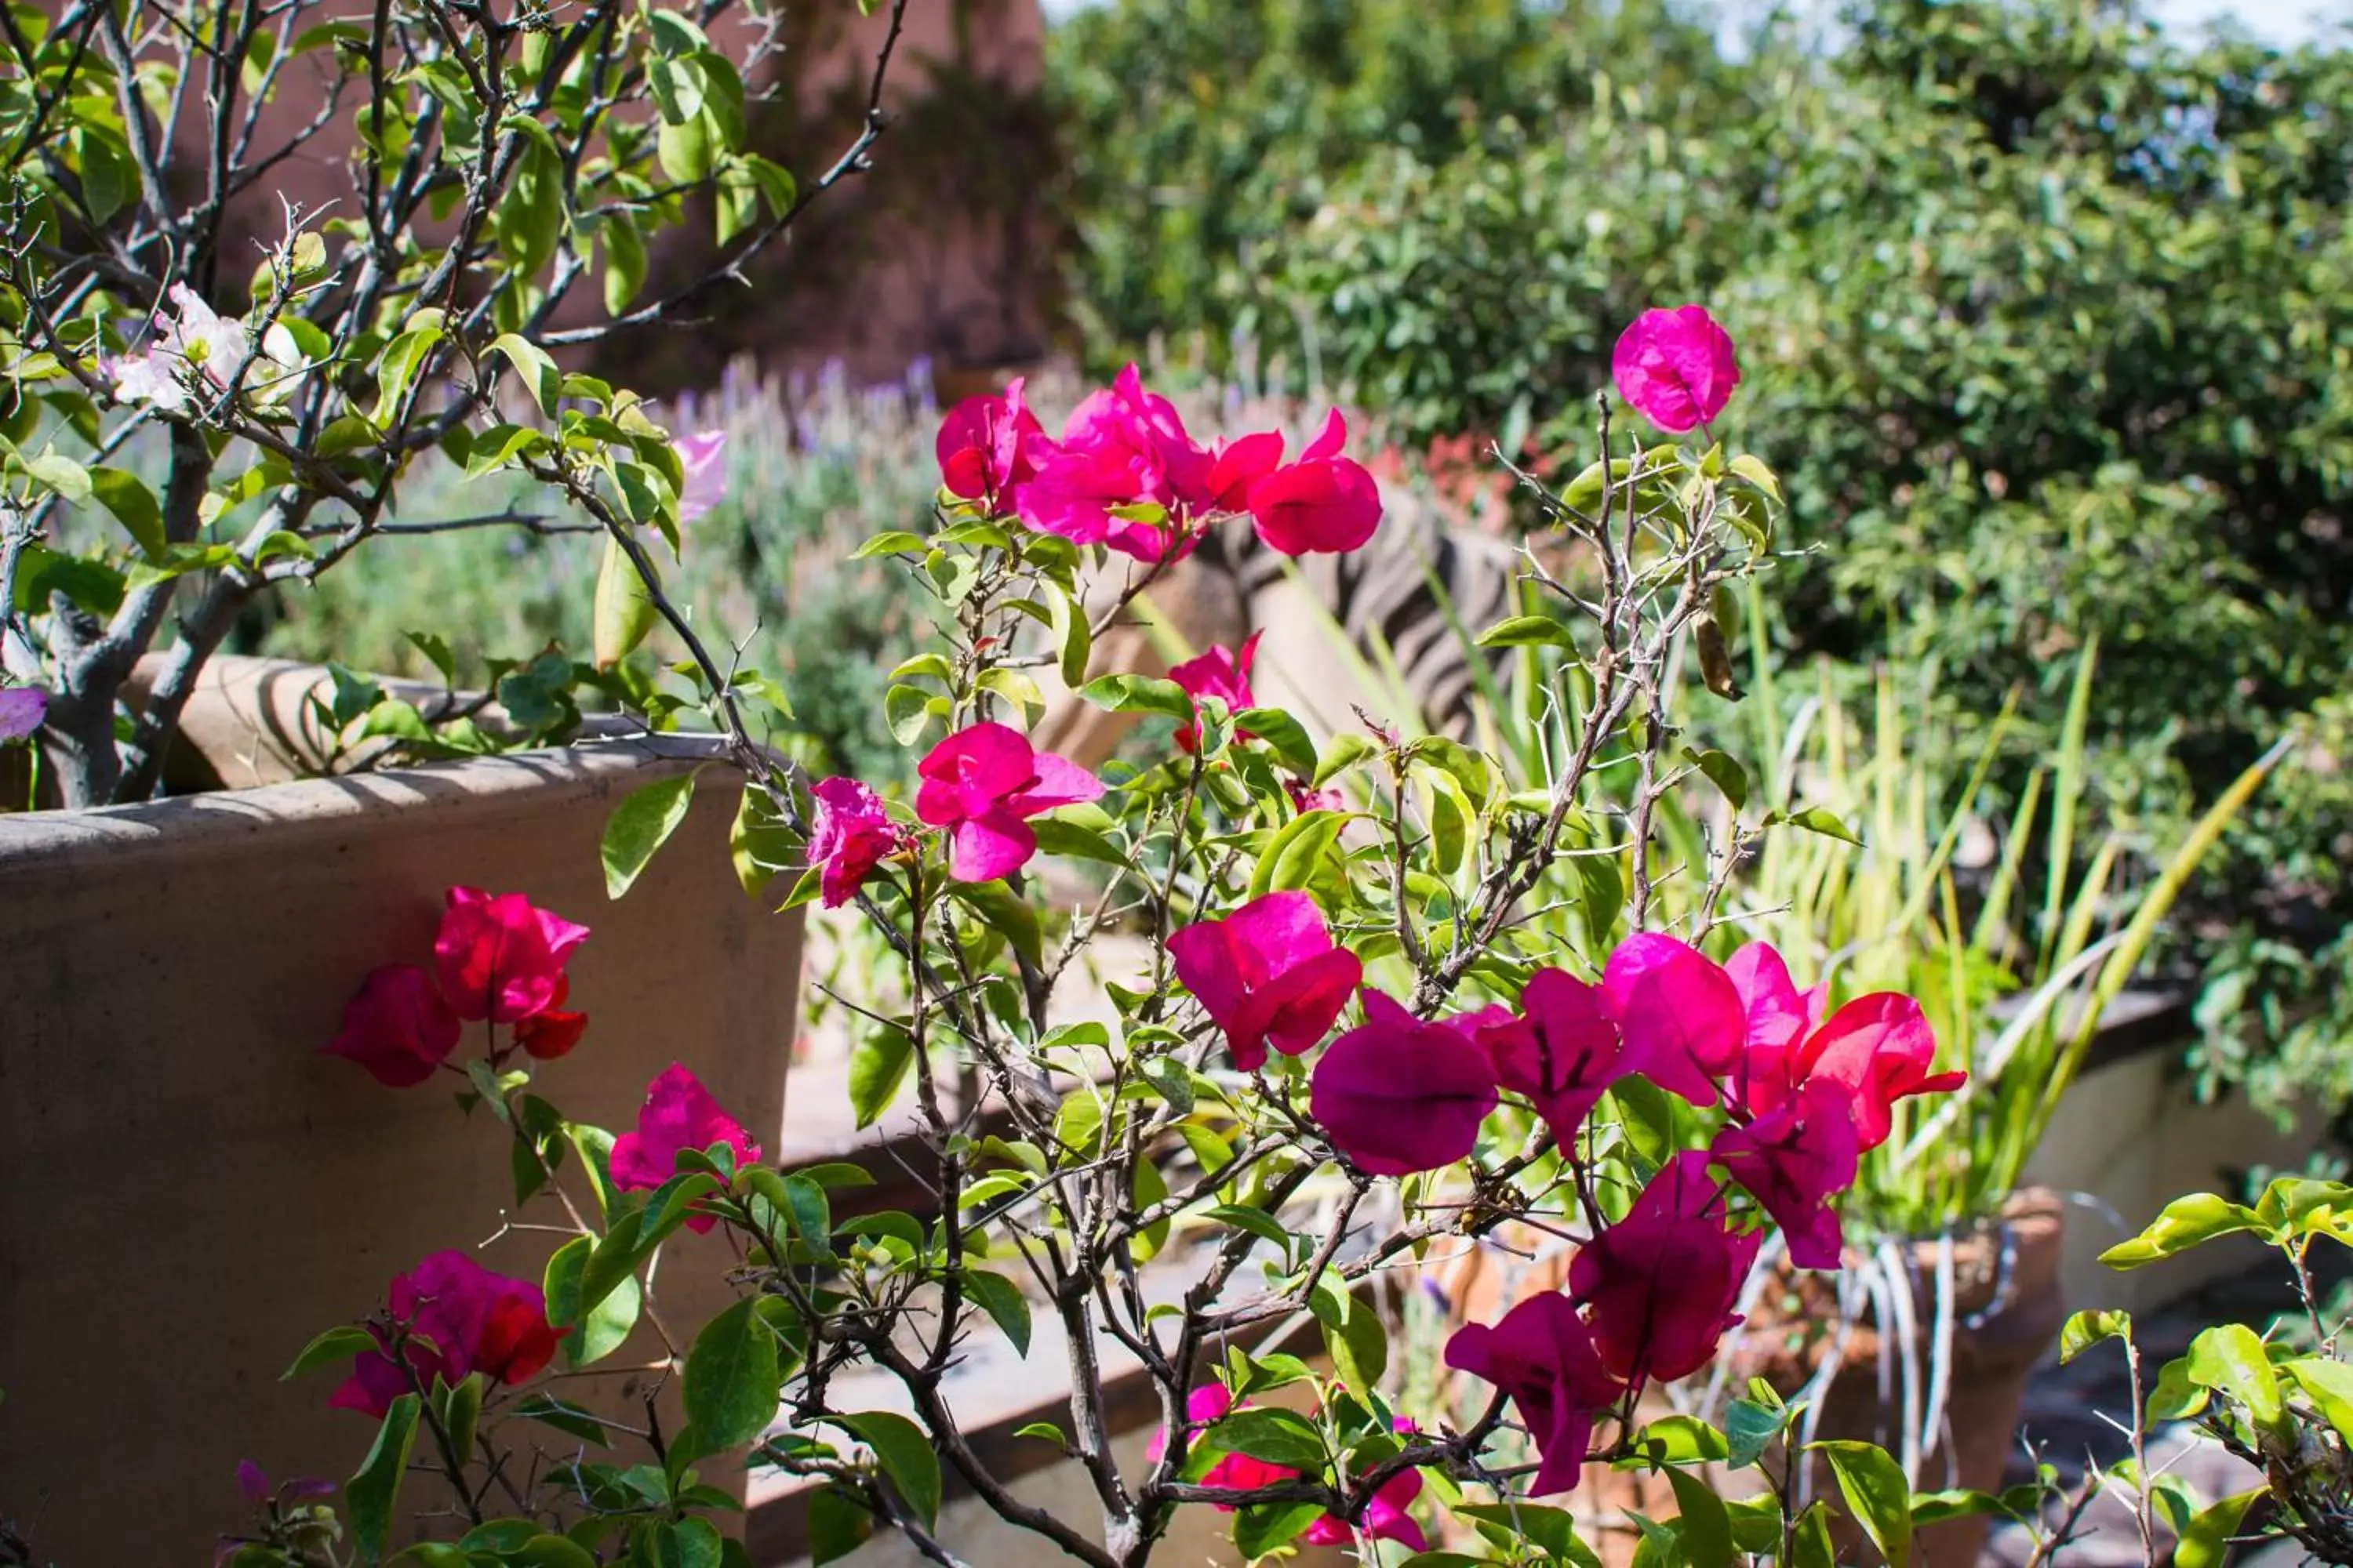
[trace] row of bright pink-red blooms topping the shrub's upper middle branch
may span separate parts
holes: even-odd
[[[936,451],[948,494],[988,515],[1160,562],[1228,515],[1247,515],[1285,555],[1360,548],[1381,524],[1381,491],[1362,463],[1341,456],[1346,440],[1348,421],[1332,409],[1292,463],[1275,430],[1202,447],[1129,364],[1071,409],[1059,440],[1014,381],[948,409]],[[1158,517],[1146,520],[1153,508]]]

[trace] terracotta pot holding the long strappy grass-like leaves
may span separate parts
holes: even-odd
[[[2047,1190],[2026,1190],[2009,1199],[1998,1222],[1953,1244],[1955,1324],[1946,1392],[1944,1439],[1920,1465],[1920,1488],[1965,1486],[1998,1493],[2002,1469],[2017,1446],[2019,1413],[2026,1403],[2026,1378],[2049,1349],[2066,1321],[2066,1295],[2059,1288],[2059,1262],[2066,1201]],[[1932,1302],[1937,1291],[1937,1241],[1908,1248],[1913,1300],[1922,1321],[1913,1328],[1913,1356],[1922,1382],[1929,1378],[1934,1335]],[[1838,1321],[1831,1276],[1809,1274],[1795,1288],[1767,1293],[1753,1314],[1751,1331],[1734,1347],[1739,1387],[1762,1375],[1784,1394],[1798,1392],[1821,1371]],[[1840,1368],[1821,1396],[1817,1439],[1866,1439],[1899,1453],[1901,1408],[1880,1396],[1882,1326],[1861,1321],[1847,1335]],[[1899,1352],[1901,1354],[1901,1352]],[[1814,1476],[1814,1495],[1835,1497],[1828,1469]],[[1967,1568],[1977,1561],[1991,1530],[1988,1519],[1955,1519],[1920,1530],[1915,1552],[1929,1568]],[[1840,1559],[1873,1559],[1859,1530],[1840,1535]],[[1920,1559],[1915,1559],[1920,1561]]]

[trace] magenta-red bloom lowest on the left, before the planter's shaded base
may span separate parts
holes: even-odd
[[[362,1352],[351,1378],[327,1399],[339,1410],[381,1418],[400,1394],[431,1392],[433,1378],[452,1387],[471,1373],[489,1382],[525,1382],[551,1359],[562,1338],[548,1324],[548,1302],[527,1279],[494,1274],[466,1253],[433,1253],[386,1293],[393,1321],[407,1326],[407,1371],[393,1363],[393,1338],[374,1328],[381,1349]]]

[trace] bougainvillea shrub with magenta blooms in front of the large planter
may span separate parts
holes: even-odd
[[[1671,327],[1699,360],[1668,343],[1621,386],[1664,423],[1708,418],[1737,378],[1729,341],[1694,310]],[[1421,1549],[1440,1528],[1513,1561],[1574,1556],[1551,1535],[1565,1516],[1529,1500],[1593,1458],[1666,1465],[1685,1514],[1657,1528],[1694,1563],[1729,1556],[1727,1505],[1675,1467],[1758,1462],[1788,1410],[1760,1392],[1715,1434],[1654,1422],[1645,1399],[1711,1363],[1772,1227],[1798,1265],[1838,1262],[1833,1204],[1857,1152],[1887,1135],[1887,1103],[1958,1084],[1906,997],[1821,1018],[1772,947],[1711,957],[1732,945],[1715,896],[1678,931],[1652,929],[1664,877],[1720,896],[1741,853],[1727,842],[1661,865],[1652,825],[1680,790],[1737,776],[1678,748],[1673,654],[1715,588],[1769,557],[1769,470],[1713,447],[1628,444],[1605,402],[1595,463],[1558,494],[1527,480],[1593,559],[1591,581],[1562,581],[1532,555],[1529,614],[1487,630],[1553,661],[1544,776],[1400,741],[1372,717],[1318,743],[1254,705],[1249,646],[1179,665],[1181,679],[1082,686],[1184,726],[1151,766],[1092,776],[1021,729],[1028,670],[1082,679],[1111,623],[1085,614],[1082,574],[1120,574],[1118,616],[1207,529],[1252,527],[1287,552],[1358,548],[1379,501],[1344,435],[1334,414],[1292,461],[1271,435],[1205,444],[1134,369],[1059,437],[1019,386],[965,402],[941,423],[936,527],[866,548],[929,588],[944,628],[887,703],[899,741],[925,752],[913,802],[798,778],[718,703],[748,778],[746,882],[774,877],[786,905],[854,905],[904,964],[904,1001],[866,1009],[852,1107],[871,1124],[913,1098],[927,1213],[838,1222],[831,1190],[856,1173],[795,1168],[793,1150],[767,1164],[748,1107],[715,1103],[685,1065],[647,1086],[619,1138],[565,1119],[539,1093],[562,1067],[532,1041],[579,1039],[565,961],[586,931],[522,896],[452,891],[433,971],[360,985],[327,1048],[393,1086],[464,1072],[466,1098],[513,1140],[518,1204],[558,1204],[572,1232],[541,1293],[435,1258],[393,1284],[384,1314],[301,1356],[353,1359],[358,1394],[336,1399],[381,1420],[346,1488],[365,1554],[391,1542],[416,1446],[468,1514],[468,1561],[558,1561],[555,1526],[631,1561],[741,1561],[711,1521],[725,1495],[696,1474],[746,1458],[816,1486],[819,1561],[875,1528],[960,1561],[939,1519],[951,1472],[1042,1549],[1094,1568],[1144,1563],[1186,1505],[1231,1509],[1249,1556],[1297,1540]],[[614,886],[656,853],[692,788],[666,780],[616,809]],[[1767,830],[1826,825],[1800,813]],[[1085,900],[1059,907],[1056,860],[1092,865]],[[1584,943],[1529,919],[1555,867],[1581,889]],[[1106,987],[1113,1020],[1056,1023],[1080,954],[1120,931],[1144,940]],[[482,1025],[482,1053],[461,1065],[459,1020]],[[965,1074],[981,1100],[951,1107],[944,1084]],[[1504,1222],[1577,1239],[1567,1288],[1452,1338],[1447,1363],[1485,1385],[1473,1408],[1400,1410],[1386,1284]],[[649,1316],[656,1253],[659,1276],[725,1272],[734,1305],[671,1338]],[[1155,1291],[1162,1272],[1181,1288]],[[1016,1497],[944,1394],[981,1319],[1028,1354],[1040,1312],[1064,1331],[1071,1410],[1031,1436],[1089,1474],[1099,1528]],[[1294,1314],[1320,1324],[1327,1371],[1266,1338]],[[593,1366],[640,1321],[661,1328],[685,1427],[511,1392],[553,1354]],[[1144,1467],[1111,1443],[1106,1340],[1158,1396]],[[840,1403],[847,1368],[899,1382],[906,1413]],[[1280,1389],[1304,1410],[1273,1403]],[[522,1441],[511,1422],[581,1446],[544,1493],[508,1488],[518,1514],[499,1521],[492,1481],[520,1469],[504,1458]],[[607,1455],[633,1443],[649,1458]],[[1802,1467],[1788,1448],[1784,1479]],[[1908,1500],[1901,1476],[1885,1486],[1892,1460],[1824,1448],[1842,1476],[1868,1479],[1849,1497],[1897,1542]],[[1744,1552],[1805,1559],[1826,1540],[1821,1507],[1791,1509],[1786,1488],[1744,1509]]]

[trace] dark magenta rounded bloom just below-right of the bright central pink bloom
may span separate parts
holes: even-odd
[[[1494,1110],[1494,1065],[1464,1023],[1424,1023],[1365,992],[1365,1023],[1315,1063],[1308,1114],[1372,1175],[1435,1171],[1478,1145]]]

